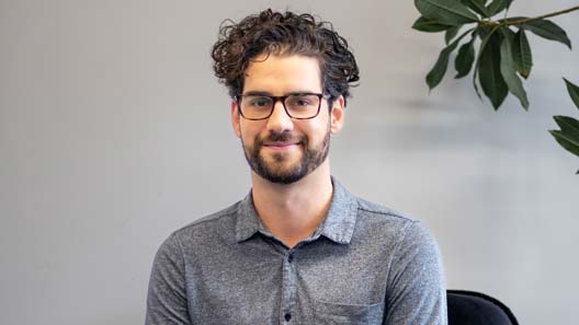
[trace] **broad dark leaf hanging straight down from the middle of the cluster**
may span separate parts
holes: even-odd
[[[488,34],[486,46],[479,55],[479,82],[483,91],[489,97],[492,107],[499,109],[509,93],[509,88],[500,72],[500,44],[501,36],[498,33]]]

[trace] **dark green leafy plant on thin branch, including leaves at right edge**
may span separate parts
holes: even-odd
[[[434,67],[427,74],[425,80],[430,90],[442,81],[449,68],[451,54],[458,48],[454,60],[455,78],[464,78],[473,70],[476,94],[483,98],[480,85],[496,111],[502,105],[509,92],[519,98],[525,109],[529,108],[523,79],[531,76],[533,55],[526,34],[531,32],[536,36],[559,42],[571,49],[567,33],[547,18],[579,10],[579,5],[536,18],[507,18],[512,1],[415,0],[421,16],[412,28],[427,33],[444,32],[446,43]],[[504,13],[503,16],[493,20],[500,13]],[[467,25],[472,26],[462,32]],[[465,37],[467,40],[463,42]],[[571,100],[579,107],[577,86],[565,81]],[[554,118],[561,130],[552,130],[552,135],[561,147],[579,156],[579,121],[567,116]]]

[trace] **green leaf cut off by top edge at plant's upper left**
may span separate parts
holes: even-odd
[[[415,0],[420,13],[444,25],[464,25],[475,23],[478,18],[456,0]]]

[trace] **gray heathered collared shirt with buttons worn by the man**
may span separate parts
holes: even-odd
[[[432,235],[332,184],[325,220],[293,248],[260,222],[251,193],[172,233],[155,257],[145,323],[446,324]]]

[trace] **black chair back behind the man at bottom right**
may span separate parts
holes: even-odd
[[[519,325],[502,302],[480,292],[446,290],[449,325]]]

